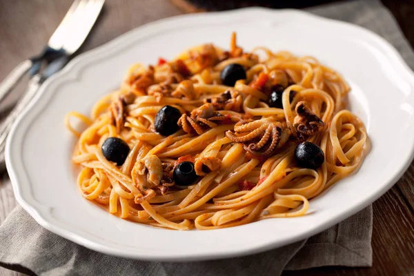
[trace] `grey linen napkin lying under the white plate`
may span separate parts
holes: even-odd
[[[414,53],[395,19],[377,0],[308,10],[349,21],[390,41],[411,68]],[[0,266],[37,275],[280,275],[317,266],[371,266],[372,207],[309,239],[265,253],[207,262],[144,262],[74,244],[37,224],[20,206],[0,226]]]

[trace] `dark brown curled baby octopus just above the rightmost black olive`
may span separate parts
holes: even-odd
[[[317,117],[307,106],[305,101],[299,101],[296,105],[296,117],[293,126],[299,140],[316,135],[324,127],[324,122]]]

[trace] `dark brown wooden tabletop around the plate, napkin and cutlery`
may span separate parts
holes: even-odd
[[[408,3],[410,1],[402,5],[395,3],[400,1],[384,2],[392,8],[413,45],[414,21],[410,20],[413,5]],[[0,1],[0,80],[19,61],[40,52],[71,3],[72,0]],[[168,0],[107,0],[101,17],[79,52],[100,46],[144,23],[183,13],[184,10]],[[24,83],[20,88],[23,86]],[[373,204],[372,268],[315,268],[284,275],[414,275],[413,183],[414,166],[411,164],[404,177]],[[0,177],[0,223],[16,204],[8,176],[3,175]],[[0,268],[0,275],[17,273]]]

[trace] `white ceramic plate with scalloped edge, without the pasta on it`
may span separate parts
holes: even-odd
[[[351,84],[351,110],[364,121],[372,150],[357,174],[311,200],[308,215],[220,230],[176,231],[119,219],[79,194],[70,158],[70,110],[117,88],[137,61],[155,63],[237,31],[246,50],[266,46],[312,55]],[[41,88],[8,139],[7,168],[17,200],[48,230],[93,250],[137,259],[189,261],[257,253],[304,239],[362,210],[402,176],[413,159],[414,77],[397,51],[349,23],[295,10],[249,8],[164,19],[80,55]]]

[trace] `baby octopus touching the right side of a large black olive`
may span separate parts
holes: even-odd
[[[206,128],[215,128],[216,123],[224,119],[226,119],[226,116],[217,112],[211,103],[204,103],[204,105],[191,111],[190,116],[181,115],[178,125],[182,126],[187,133],[197,132],[198,135],[201,135]]]

